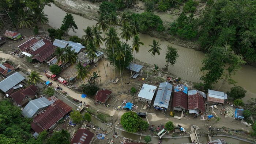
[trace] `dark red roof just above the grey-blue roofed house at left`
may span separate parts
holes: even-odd
[[[37,92],[37,90],[37,87],[31,85],[26,89],[20,89],[17,92],[11,94],[11,97],[18,105],[20,105],[26,96],[36,96],[37,94],[35,94],[35,92]]]

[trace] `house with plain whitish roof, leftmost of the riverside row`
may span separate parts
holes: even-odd
[[[138,94],[139,101],[150,104],[156,90],[157,90],[156,86],[148,85],[144,83]]]

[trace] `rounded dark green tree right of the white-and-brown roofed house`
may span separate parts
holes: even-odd
[[[244,87],[234,86],[234,87],[231,87],[230,92],[227,92],[227,95],[229,95],[230,97],[233,97],[236,100],[239,98],[244,98],[246,92],[247,91],[244,89]]]

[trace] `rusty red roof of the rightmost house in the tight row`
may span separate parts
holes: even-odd
[[[204,97],[199,93],[188,96],[188,110],[199,109],[204,112]]]

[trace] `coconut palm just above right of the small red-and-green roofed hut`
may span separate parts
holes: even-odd
[[[19,28],[23,28],[23,27],[29,28],[31,33],[33,34],[31,30],[31,28],[34,25],[33,17],[30,15],[29,12],[25,12],[23,9],[19,9],[18,12],[19,12],[19,19],[18,19]]]

